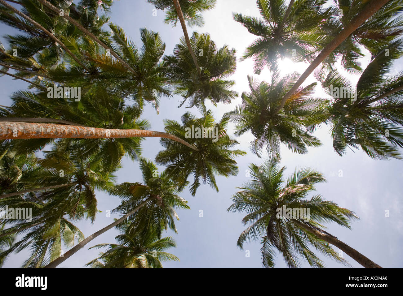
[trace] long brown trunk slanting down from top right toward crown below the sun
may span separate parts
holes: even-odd
[[[287,94],[281,100],[280,106],[274,112],[277,114],[281,109],[284,108],[285,102],[295,91],[301,86],[301,84],[305,81],[308,76],[314,72],[316,67],[320,65],[326,59],[326,57],[338,47],[351,33],[353,33],[362,23],[364,23],[367,19],[369,19],[372,14],[377,12],[382,6],[388,3],[390,0],[372,0],[368,3],[364,10],[361,11],[355,19],[353,19],[315,58],[315,60],[308,66],[308,68],[303,72],[303,74],[299,77],[297,82],[293,85],[293,87],[289,90]]]

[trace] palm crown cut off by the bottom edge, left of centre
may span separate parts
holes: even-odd
[[[133,229],[135,228],[135,229]],[[85,266],[93,268],[162,268],[161,261],[180,261],[165,250],[176,247],[171,237],[158,237],[158,231],[139,232],[133,224],[120,226],[121,234],[116,236],[118,244],[100,244],[91,247],[108,247],[108,251]]]

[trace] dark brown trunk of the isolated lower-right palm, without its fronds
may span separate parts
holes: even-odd
[[[334,245],[335,247],[338,247],[341,251],[349,255],[351,258],[353,258],[355,261],[357,261],[359,264],[364,266],[365,268],[382,268],[378,264],[376,264],[374,261],[371,261],[361,253],[359,253],[357,250],[351,248],[349,245],[346,245],[343,243],[341,240],[338,240],[336,237],[328,235],[324,232],[320,232],[319,230],[299,221],[296,219],[291,219],[291,221],[295,224],[297,224],[299,227],[311,232],[318,238]]]

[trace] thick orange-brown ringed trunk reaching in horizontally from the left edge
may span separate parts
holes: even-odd
[[[0,121],[0,140],[57,138],[110,139],[134,137],[167,138],[186,145],[195,151],[199,151],[181,138],[164,132],[154,132],[143,129],[106,129],[54,123]]]

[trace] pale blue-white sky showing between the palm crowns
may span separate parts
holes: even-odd
[[[160,33],[166,43],[165,54],[172,54],[175,44],[183,35],[180,25],[171,27],[164,24],[164,12],[157,11],[153,16],[153,6],[145,0],[120,0],[114,1],[110,14],[111,22],[120,25],[127,35],[141,45],[139,29],[147,29]],[[212,40],[218,47],[229,45],[237,50],[240,58],[245,48],[255,40],[255,36],[248,33],[239,23],[232,19],[232,12],[259,16],[255,0],[218,0],[216,7],[204,13],[206,25],[202,28],[188,28],[189,35],[192,31],[210,33]],[[0,38],[6,46],[3,36],[15,33],[9,27],[0,24]],[[368,63],[368,57],[363,63]],[[365,64],[364,64],[365,66]],[[289,61],[280,62],[282,74],[290,72],[302,72],[307,64],[293,64]],[[395,66],[396,73],[402,70],[402,63]],[[253,74],[253,62],[246,60],[237,63],[237,71],[231,77],[236,84],[234,90],[241,94],[248,91],[247,75]],[[253,75],[256,79],[270,81],[270,72],[266,69],[260,75]],[[350,77],[356,82],[356,77]],[[314,82],[311,75],[303,85]],[[21,80],[13,80],[11,77],[0,78],[0,105],[10,105],[10,95],[20,89],[25,89],[27,83]],[[318,86],[318,94],[321,94]],[[189,111],[185,107],[177,108],[181,98],[179,96],[170,99],[162,98],[159,115],[147,107],[142,118],[152,124],[152,130],[162,131],[163,119],[180,121],[181,115]],[[241,103],[241,98],[233,100],[230,105],[218,104],[218,107],[206,103],[208,109],[214,112],[218,121],[225,112],[234,109]],[[193,113],[200,115],[197,109],[191,109]],[[201,115],[200,115],[201,117]],[[231,133],[233,125],[228,132]],[[324,199],[334,201],[343,208],[354,211],[361,220],[351,223],[352,229],[343,228],[336,224],[326,225],[334,236],[347,243],[372,261],[382,267],[403,267],[403,255],[401,245],[403,243],[403,219],[402,219],[402,192],[403,170],[401,160],[373,160],[361,150],[349,150],[340,157],[334,152],[329,129],[323,125],[316,130],[314,136],[319,138],[323,145],[318,148],[310,148],[307,154],[295,154],[282,146],[282,166],[286,166],[285,177],[293,173],[296,167],[308,166],[324,173],[327,183],[317,186],[317,191],[312,195],[322,194]],[[233,136],[235,138],[235,136]],[[177,248],[169,249],[168,252],[179,257],[180,262],[165,262],[168,268],[193,268],[193,267],[250,267],[261,268],[260,241],[247,243],[244,250],[237,248],[236,242],[239,234],[247,227],[241,223],[243,214],[233,214],[226,209],[231,205],[231,196],[236,192],[235,187],[240,187],[248,181],[246,170],[250,163],[260,164],[263,158],[258,158],[249,150],[249,142],[253,140],[250,133],[237,138],[237,149],[247,151],[246,156],[237,158],[239,174],[236,177],[217,177],[219,192],[202,185],[197,190],[195,197],[185,189],[181,196],[188,201],[191,210],[179,210],[180,220],[176,223],[178,234],[168,231],[162,236],[172,236],[177,242]],[[154,160],[156,154],[162,150],[158,138],[148,138],[142,142],[143,156]],[[162,166],[159,166],[163,170]],[[117,172],[117,182],[142,181],[138,162],[129,159],[123,160],[123,168]],[[103,228],[118,218],[118,214],[106,217],[106,211],[112,210],[119,205],[118,197],[109,196],[106,193],[97,193],[98,214],[96,221],[91,225],[89,221],[75,223],[81,231],[88,236]],[[199,216],[200,210],[203,217]],[[385,217],[385,211],[389,211],[389,217]],[[115,229],[98,236],[87,244],[83,249],[64,261],[59,267],[83,267],[87,262],[98,257],[100,250],[89,247],[99,243],[114,243],[114,237],[118,234]],[[66,251],[66,247],[65,251]],[[247,256],[247,252],[250,256]],[[339,251],[336,249],[336,251]],[[318,254],[327,267],[343,267],[343,265]],[[12,254],[4,267],[20,267],[29,257],[29,251],[24,250],[18,254]],[[348,255],[345,259],[353,267],[362,267]],[[301,260],[302,261],[302,260]],[[309,267],[303,262],[303,267]],[[287,267],[280,255],[276,259],[276,267]]]

